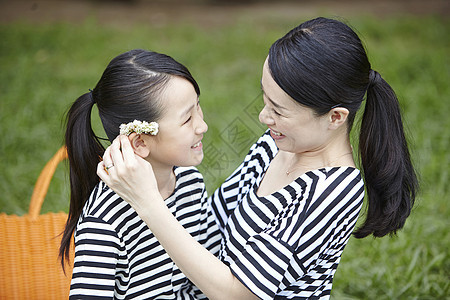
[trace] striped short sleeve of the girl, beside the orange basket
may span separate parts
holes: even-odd
[[[113,299],[116,267],[123,247],[110,224],[94,217],[84,218],[75,233],[75,259],[70,299],[96,296]],[[122,264],[126,263],[122,261]]]

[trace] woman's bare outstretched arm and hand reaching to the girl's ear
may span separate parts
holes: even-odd
[[[108,172],[105,166],[114,163]],[[99,177],[137,211],[181,271],[210,299],[258,299],[178,223],[161,197],[150,163],[124,136],[114,140],[97,168]]]

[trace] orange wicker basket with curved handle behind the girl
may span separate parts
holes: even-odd
[[[58,164],[67,158],[62,147],[39,175],[28,214],[0,214],[0,299],[67,299],[72,265],[64,274],[58,259],[67,214],[40,215]],[[73,263],[73,249],[71,252]]]

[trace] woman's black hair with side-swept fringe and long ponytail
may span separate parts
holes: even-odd
[[[349,133],[367,94],[359,151],[369,202],[366,219],[354,235],[395,234],[411,212],[417,177],[397,97],[371,69],[358,35],[336,20],[307,21],[271,46],[269,69],[289,96],[316,115],[347,108]]]

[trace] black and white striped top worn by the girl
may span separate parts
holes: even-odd
[[[186,230],[215,255],[221,234],[207,206],[203,177],[174,169],[165,200]],[[181,273],[136,211],[100,182],[77,224],[70,299],[206,299]]]

